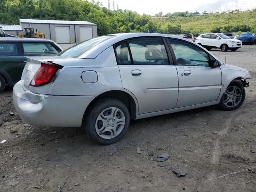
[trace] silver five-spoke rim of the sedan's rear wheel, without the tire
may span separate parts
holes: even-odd
[[[101,138],[112,139],[122,132],[124,125],[124,112],[119,108],[110,107],[100,112],[95,122],[95,129]]]

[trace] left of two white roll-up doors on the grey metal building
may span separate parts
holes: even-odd
[[[56,43],[70,43],[70,29],[69,26],[55,27]]]

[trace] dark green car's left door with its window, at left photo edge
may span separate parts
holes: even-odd
[[[21,43],[0,42],[0,74],[10,85],[21,79],[23,57]]]

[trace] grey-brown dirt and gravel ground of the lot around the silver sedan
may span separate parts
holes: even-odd
[[[224,61],[225,53],[212,51]],[[255,192],[256,46],[227,52],[226,64],[250,71],[244,104],[235,111],[216,106],[133,121],[119,142],[100,146],[81,128],[41,128],[18,117],[12,89],[0,95],[1,192]],[[213,132],[218,132],[214,134]],[[140,147],[142,154],[137,154]],[[168,153],[165,162],[150,160]],[[112,155],[110,155],[112,153]],[[160,167],[187,172],[177,177]]]

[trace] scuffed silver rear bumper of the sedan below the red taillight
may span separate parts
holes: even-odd
[[[20,118],[43,127],[79,127],[93,96],[55,96],[35,94],[19,81],[13,88],[13,103]]]

